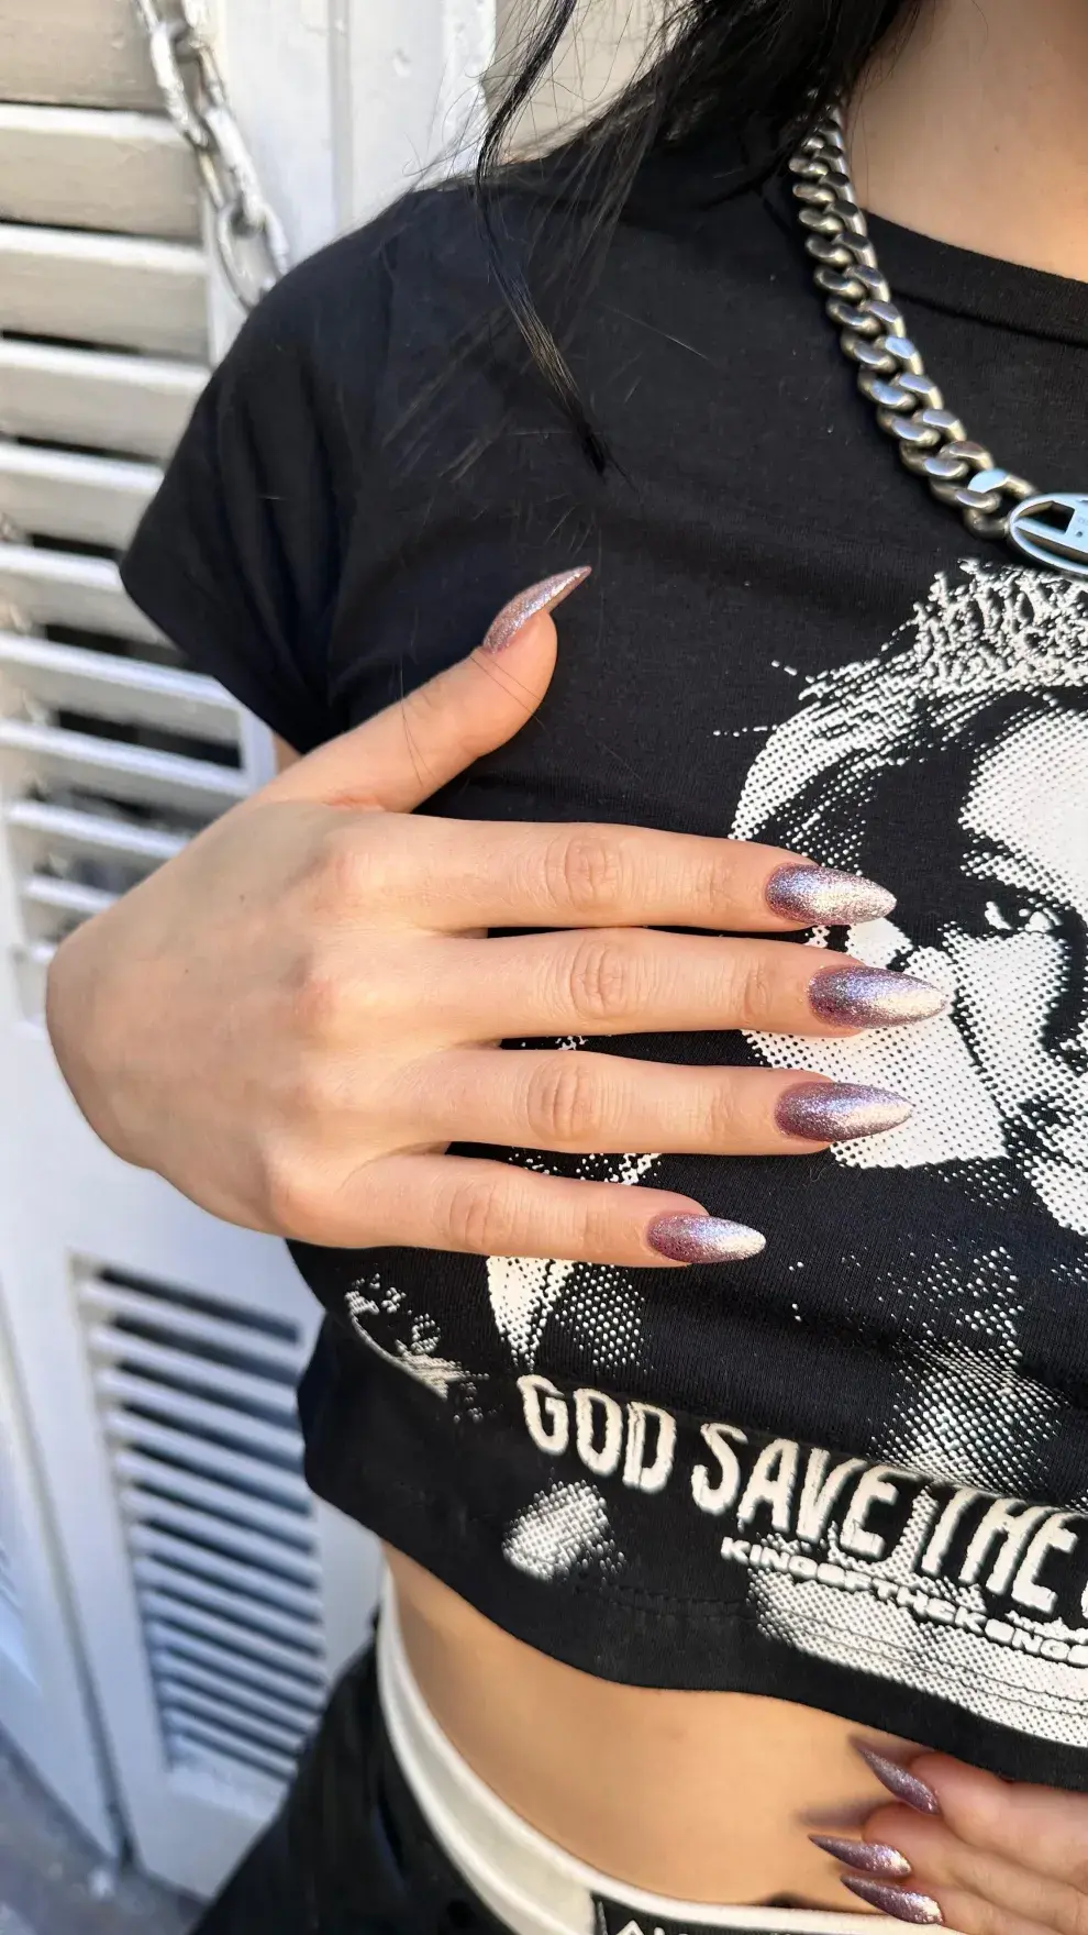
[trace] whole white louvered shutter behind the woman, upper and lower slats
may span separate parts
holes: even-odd
[[[302,1482],[316,1308],[285,1252],[114,1161],[48,1053],[58,940],[269,755],[118,579],[209,356],[196,178],[130,0],[0,0],[0,1399],[29,1422],[137,1858],[209,1892],[366,1639],[376,1558]],[[50,1591],[23,1465],[0,1451],[0,1726],[91,1823],[58,1765],[79,1726],[91,1751],[72,1652],[50,1751],[8,1691]],[[52,1616],[64,1633],[56,1583]]]

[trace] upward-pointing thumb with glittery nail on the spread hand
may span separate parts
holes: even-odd
[[[519,592],[468,658],[296,760],[257,799],[410,813],[472,760],[513,739],[536,712],[556,670],[548,613],[589,571],[561,571]]]

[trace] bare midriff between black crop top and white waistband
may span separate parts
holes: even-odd
[[[438,1724],[550,1840],[687,1902],[858,1906],[807,1836],[854,1832],[887,1800],[852,1751],[860,1728],[792,1701],[594,1680],[503,1633],[401,1554],[387,1560]]]

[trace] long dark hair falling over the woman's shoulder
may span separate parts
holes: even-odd
[[[552,180],[563,182],[579,209],[583,273],[571,275],[567,259],[567,286],[585,286],[590,257],[600,259],[647,157],[710,151],[726,141],[747,157],[726,192],[749,188],[782,163],[821,104],[852,91],[873,52],[892,31],[898,37],[918,6],[920,0],[672,0],[631,85],[552,159]],[[515,172],[503,159],[509,132],[548,74],[577,8],[579,0],[542,0],[519,72],[482,143],[476,201],[507,313],[587,457],[604,470],[606,443],[498,213],[498,188]]]

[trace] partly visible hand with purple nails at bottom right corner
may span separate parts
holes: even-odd
[[[813,1834],[850,1863],[852,1894],[958,1935],[1088,1935],[1088,1794],[1011,1784],[943,1753],[906,1765],[861,1753],[900,1805],[879,1807],[861,1842]]]

